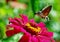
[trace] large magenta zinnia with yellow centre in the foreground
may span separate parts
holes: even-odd
[[[19,42],[55,42],[53,33],[48,32],[43,22],[36,23],[33,19],[28,20],[27,16],[20,15],[21,18],[10,18],[7,25],[7,36],[12,36],[23,32],[24,36]],[[12,29],[11,29],[12,28]]]

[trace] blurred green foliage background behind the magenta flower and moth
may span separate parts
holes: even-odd
[[[34,14],[49,5],[52,5],[48,15],[50,21]],[[48,30],[54,32],[54,39],[60,40],[60,0],[0,0],[0,39],[6,38],[5,26],[8,24],[8,17],[19,17],[19,14],[26,14],[37,23],[43,21]]]

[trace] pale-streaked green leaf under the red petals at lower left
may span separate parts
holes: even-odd
[[[8,37],[6,39],[0,40],[2,42],[18,42],[23,36],[23,33],[15,34],[14,36]]]

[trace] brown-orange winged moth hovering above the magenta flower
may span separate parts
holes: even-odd
[[[51,10],[52,6],[48,6],[42,9],[42,11],[39,11],[35,13],[36,15],[40,16],[41,18],[48,19],[49,12]]]

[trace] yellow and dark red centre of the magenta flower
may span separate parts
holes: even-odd
[[[27,23],[25,26],[26,26],[27,31],[29,31],[32,34],[38,34],[41,31],[40,27],[33,27],[31,26],[30,23]]]

